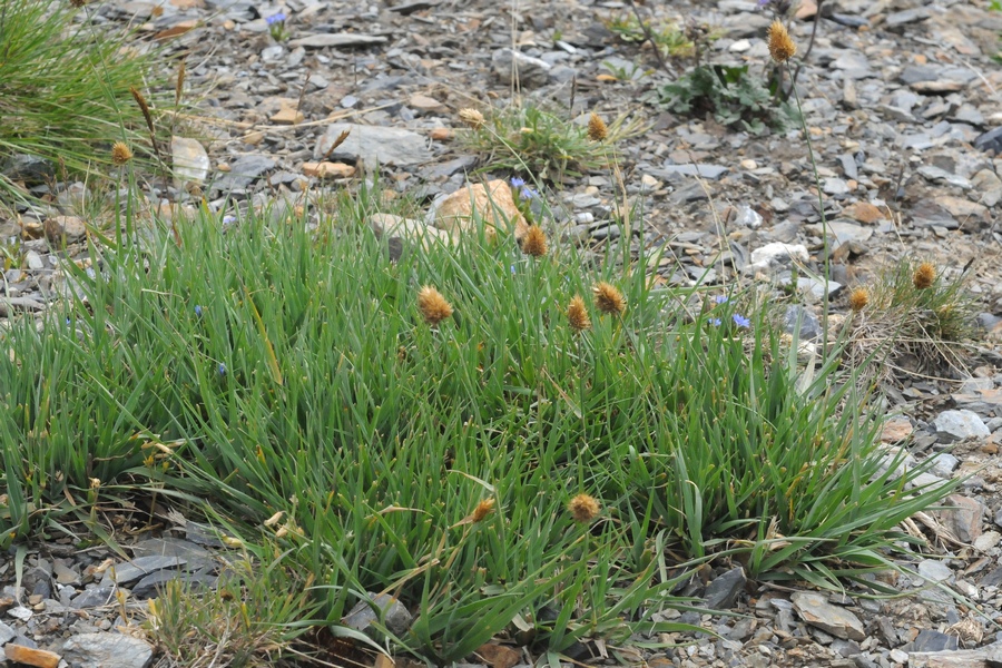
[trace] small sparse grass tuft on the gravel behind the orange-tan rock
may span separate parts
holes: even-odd
[[[509,171],[539,181],[562,181],[609,166],[609,150],[588,138],[588,128],[563,114],[532,102],[494,109],[487,116],[469,109],[461,119],[464,147],[478,154],[483,171]],[[609,124],[609,143],[639,132],[639,121],[619,117]]]

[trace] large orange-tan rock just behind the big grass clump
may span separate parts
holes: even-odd
[[[508,181],[495,179],[469,185],[442,200],[435,210],[435,225],[459,236],[477,229],[483,222],[484,234],[493,237],[498,232],[513,232],[517,239],[529,229],[525,217],[515,206]]]

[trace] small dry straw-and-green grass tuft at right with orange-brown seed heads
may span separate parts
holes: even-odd
[[[870,373],[942,375],[964,369],[973,335],[975,302],[965,276],[949,279],[931,262],[904,258],[865,289],[865,311],[853,321],[849,353],[855,363],[878,360]],[[853,295],[851,295],[851,306]]]

